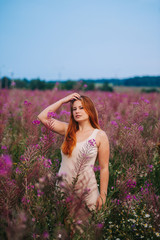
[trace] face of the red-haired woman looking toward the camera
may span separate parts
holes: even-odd
[[[80,100],[76,100],[73,103],[73,117],[76,122],[89,119],[89,116],[84,110],[82,102]]]

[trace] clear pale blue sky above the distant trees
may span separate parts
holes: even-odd
[[[0,77],[160,75],[160,0],[0,0]]]

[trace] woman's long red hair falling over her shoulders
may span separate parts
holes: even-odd
[[[89,121],[92,125],[93,128],[98,128],[100,129],[99,122],[98,122],[98,114],[97,110],[92,102],[92,100],[87,97],[87,96],[81,96],[81,102],[84,110],[87,112],[89,115]],[[70,115],[70,121],[67,129],[67,133],[64,139],[64,142],[62,144],[62,152],[66,155],[71,156],[73,148],[76,145],[76,132],[79,129],[78,122],[74,120],[73,117],[73,103],[76,100],[73,100],[71,102],[71,115]]]

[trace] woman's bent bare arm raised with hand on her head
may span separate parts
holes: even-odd
[[[78,93],[72,93],[68,95],[67,97],[64,97],[60,99],[59,101],[51,104],[47,108],[45,108],[38,116],[37,118],[41,121],[42,124],[44,124],[47,128],[52,130],[53,132],[56,132],[60,135],[65,135],[68,123],[59,121],[54,118],[50,118],[48,116],[49,112],[56,112],[57,109],[59,109],[64,103],[68,103],[73,99],[80,98],[80,95]]]

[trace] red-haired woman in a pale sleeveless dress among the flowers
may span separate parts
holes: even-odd
[[[69,124],[48,117],[49,112],[56,112],[62,104],[68,102],[71,103]],[[101,209],[106,202],[109,181],[109,142],[106,133],[100,129],[97,111],[91,99],[72,93],[44,109],[38,119],[52,131],[65,136],[59,173],[66,173],[68,183],[73,183],[74,177],[79,174],[79,190],[84,187],[84,182],[88,188],[88,207]],[[100,166],[100,193],[93,171],[97,158]],[[80,161],[84,165],[81,169]]]

